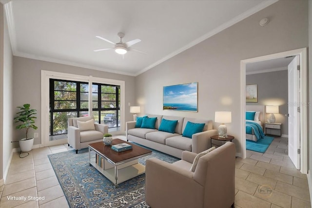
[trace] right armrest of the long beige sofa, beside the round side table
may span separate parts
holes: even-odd
[[[215,129],[195,133],[192,135],[192,152],[199,153],[211,148],[210,137],[218,134]]]

